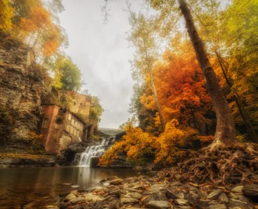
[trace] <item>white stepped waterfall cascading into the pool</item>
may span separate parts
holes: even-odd
[[[88,146],[84,153],[77,153],[75,159],[77,159],[77,166],[89,167],[91,164],[91,157],[100,157],[104,155],[107,149],[114,144],[114,137],[104,138],[100,145]]]

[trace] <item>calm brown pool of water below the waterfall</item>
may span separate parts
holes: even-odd
[[[0,208],[46,208],[56,203],[58,194],[103,187],[99,181],[104,178],[142,174],[138,172],[89,167],[0,168]]]

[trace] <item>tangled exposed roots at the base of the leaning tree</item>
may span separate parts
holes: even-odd
[[[237,143],[231,146],[213,144],[178,167],[165,173],[168,180],[225,185],[232,181],[250,183],[250,175],[258,171],[258,144]],[[240,183],[240,182],[239,182]]]

